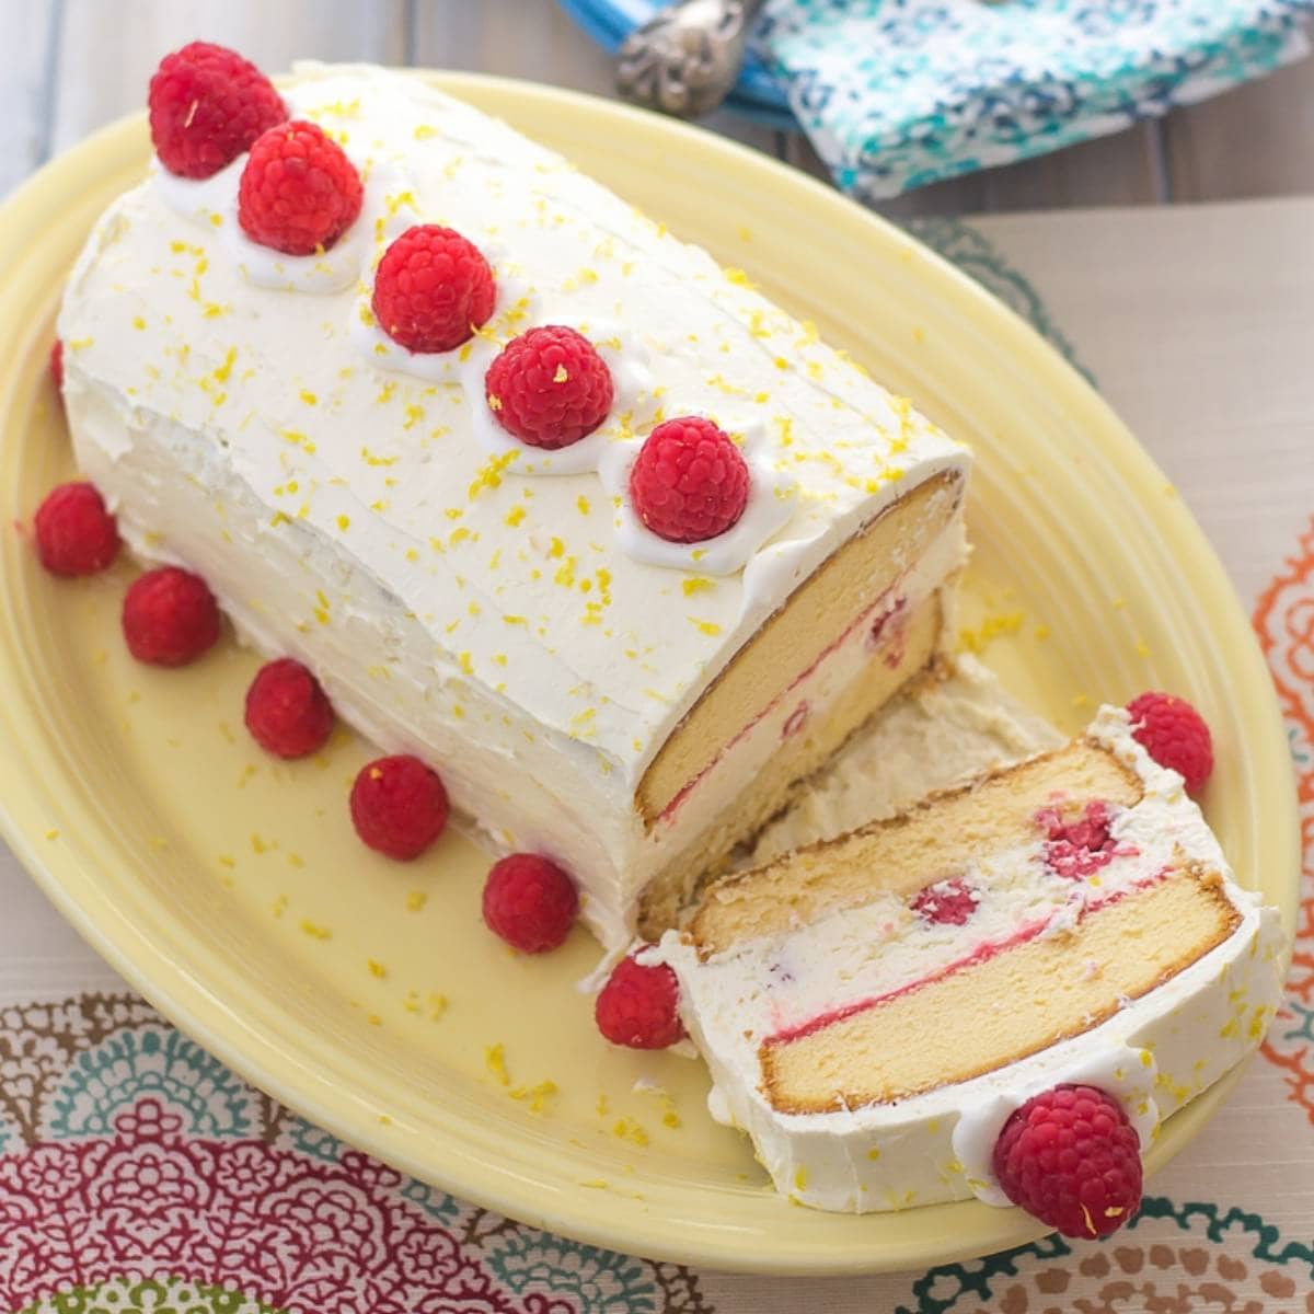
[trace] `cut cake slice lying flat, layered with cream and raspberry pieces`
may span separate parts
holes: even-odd
[[[714,1114],[836,1210],[978,1194],[1012,1109],[1080,1081],[1159,1121],[1264,1034],[1277,915],[1104,708],[1063,748],[714,886],[656,950]]]

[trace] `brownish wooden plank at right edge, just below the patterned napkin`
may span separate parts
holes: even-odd
[[[1166,142],[1175,200],[1314,192],[1314,59],[1176,110]]]

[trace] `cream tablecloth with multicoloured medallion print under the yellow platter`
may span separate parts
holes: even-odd
[[[1314,1311],[1314,200],[937,221],[921,235],[1085,369],[1254,608],[1301,779],[1286,1007],[1105,1243],[880,1279],[607,1254],[409,1180],[135,999],[0,850],[0,1314]]]

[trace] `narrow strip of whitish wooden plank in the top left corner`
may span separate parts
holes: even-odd
[[[0,4],[0,196],[22,181],[46,155],[50,131],[47,87],[54,59],[55,0]]]

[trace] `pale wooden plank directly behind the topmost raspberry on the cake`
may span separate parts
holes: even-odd
[[[145,105],[160,57],[193,39],[231,46],[271,74],[300,58],[402,63],[406,9],[402,0],[66,0],[54,147]]]

